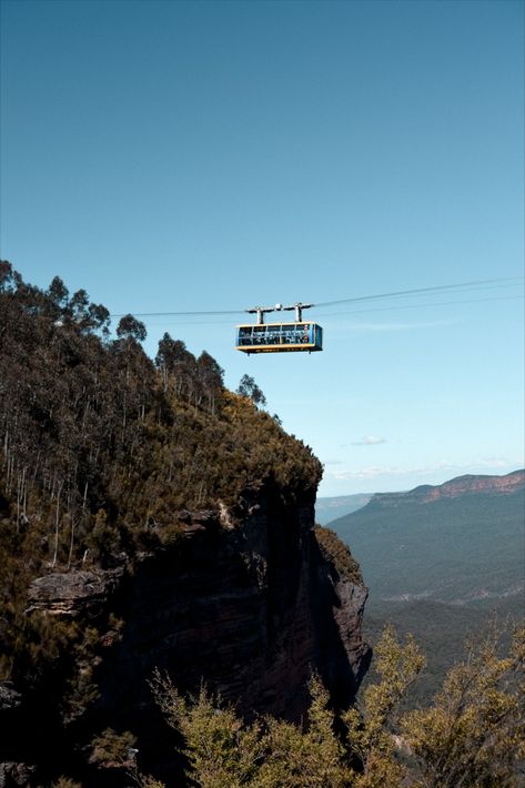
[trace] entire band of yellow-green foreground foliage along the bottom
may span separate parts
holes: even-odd
[[[192,785],[517,788],[525,757],[525,636],[516,629],[502,656],[501,635],[473,646],[432,706],[412,713],[400,711],[400,701],[425,659],[412,638],[402,645],[392,628],[376,647],[377,683],[339,719],[312,677],[304,728],[271,717],[242,723],[205,688],[185,698],[160,674],[152,688],[183,737]]]

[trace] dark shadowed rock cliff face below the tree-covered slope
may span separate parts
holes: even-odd
[[[321,552],[313,494],[294,505],[270,486],[246,494],[235,526],[221,511],[179,521],[182,535],[133,572],[51,574],[30,590],[29,615],[95,622],[111,607],[124,622],[119,637],[100,638],[100,697],[85,725],[138,734],[141,768],[164,757],[148,684],[155,668],[183,691],[204,680],[249,718],[297,720],[312,669],[343,706],[371,657],[361,637],[366,588]]]

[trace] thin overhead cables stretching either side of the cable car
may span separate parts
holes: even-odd
[[[353,304],[364,301],[380,301],[382,299],[394,299],[404,295],[421,295],[423,293],[453,293],[457,292],[470,292],[473,290],[479,290],[482,285],[492,285],[493,287],[506,286],[513,284],[519,284],[523,282],[523,276],[503,276],[498,279],[486,279],[486,280],[473,280],[470,282],[457,282],[455,284],[442,284],[433,287],[416,287],[413,290],[398,290],[391,293],[377,293],[375,295],[360,295],[351,299],[339,299],[336,301],[324,301],[312,306],[337,306],[340,304]],[[198,316],[212,316],[212,315],[239,315],[246,310],[213,310],[213,311],[191,311],[191,312],[133,312],[135,317],[198,317]],[[123,317],[124,313],[111,314],[110,317]]]

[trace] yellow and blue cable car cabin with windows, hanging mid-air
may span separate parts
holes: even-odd
[[[317,323],[238,325],[236,350],[243,353],[322,351],[323,330]]]

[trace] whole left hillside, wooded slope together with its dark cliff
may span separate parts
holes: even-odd
[[[314,528],[311,449],[226,391],[208,353],[165,334],[153,362],[132,315],[115,334],[84,291],[0,265],[8,784],[122,785],[127,765],[93,755],[108,728],[173,779],[155,668],[244,715],[299,719],[312,669],[344,705],[370,663],[359,568]]]

